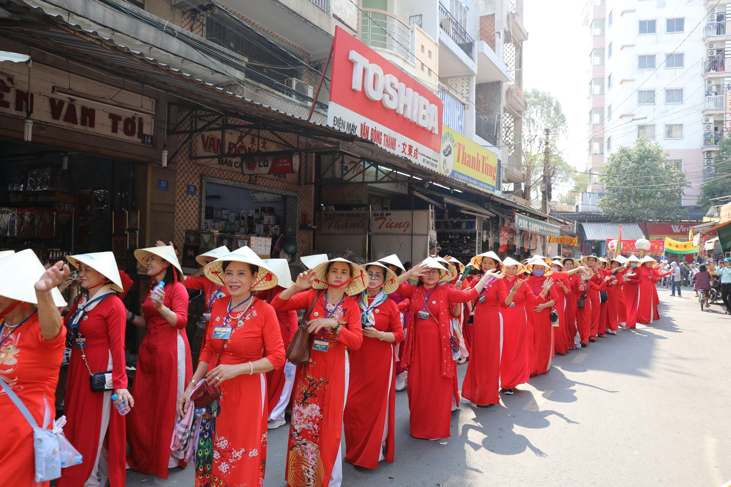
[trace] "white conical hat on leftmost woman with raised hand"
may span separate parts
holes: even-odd
[[[0,296],[38,304],[34,285],[44,273],[45,267],[29,248],[0,258],[0,275],[4,277],[0,280]],[[50,294],[53,296],[53,304],[58,307],[66,306],[64,296],[61,296],[58,288],[54,288]]]

